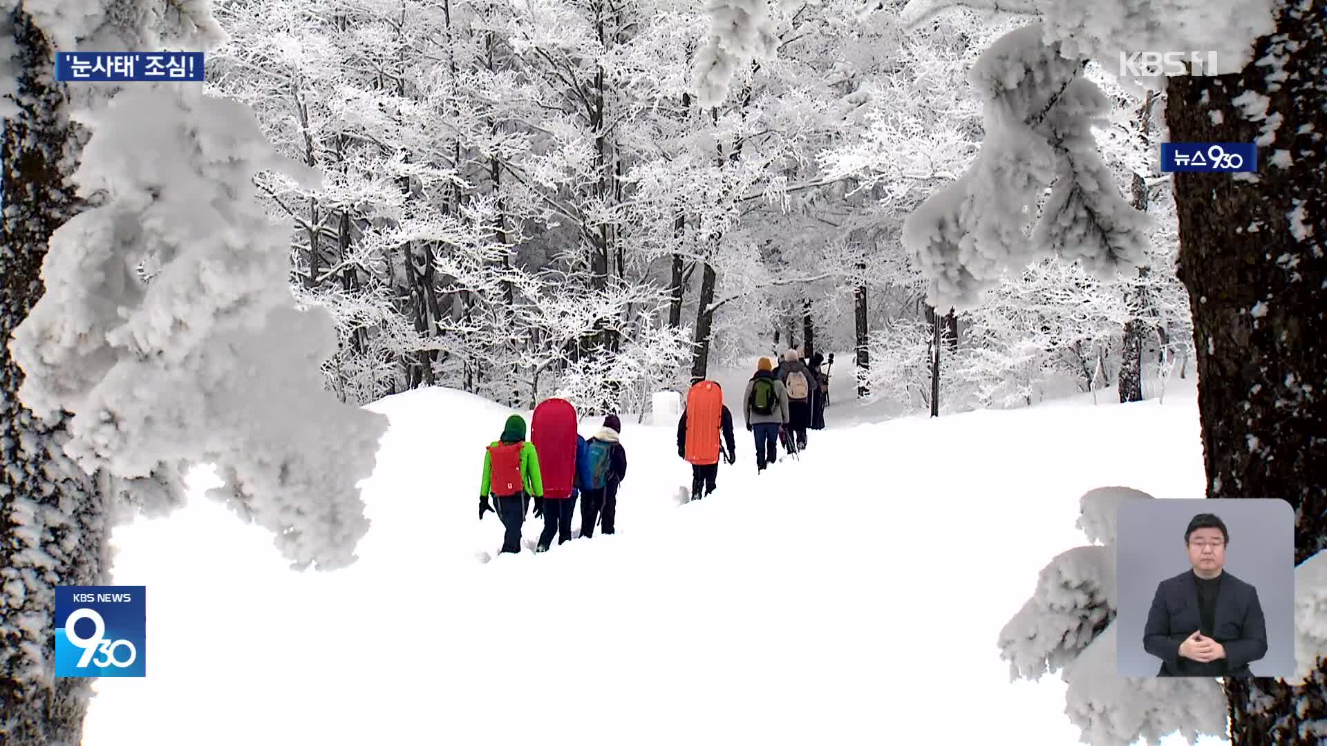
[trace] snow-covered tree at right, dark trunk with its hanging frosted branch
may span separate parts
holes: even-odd
[[[989,82],[989,125],[1002,125],[987,127],[991,157],[909,219],[906,243],[932,292],[975,305],[998,268],[1056,254],[1104,272],[1137,264],[1141,222],[1103,188],[1095,151],[1060,137],[1082,133],[1100,109],[1078,70],[1088,60],[1113,65],[1121,53],[1214,52],[1220,74],[1153,81],[1166,90],[1170,139],[1259,147],[1257,174],[1174,175],[1208,496],[1289,500],[1295,560],[1304,561],[1327,547],[1327,441],[1318,434],[1327,398],[1311,382],[1327,365],[1314,311],[1327,292],[1327,16],[1314,3],[1279,0],[1209,4],[1197,19],[1180,3],[1034,0],[1019,9],[1038,23],[993,45],[973,73]],[[1051,179],[1060,198],[1023,240],[1023,208]],[[1327,723],[1327,660],[1302,685],[1231,680],[1226,692],[1237,743],[1294,741]]]

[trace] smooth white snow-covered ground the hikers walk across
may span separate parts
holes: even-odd
[[[868,425],[836,404],[758,477],[744,377],[722,377],[738,462],[711,499],[678,507],[675,429],[624,418],[618,534],[545,555],[476,560],[502,539],[476,498],[508,410],[445,389],[372,408],[391,430],[348,569],[288,571],[202,496],[118,528],[147,677],[94,684],[85,746],[1078,742],[1064,685],[1010,684],[997,636],[1084,543],[1084,491],[1202,494],[1193,382]]]

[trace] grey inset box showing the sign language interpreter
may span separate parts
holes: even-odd
[[[1116,670],[1286,677],[1295,668],[1294,511],[1281,499],[1157,499],[1117,515]]]

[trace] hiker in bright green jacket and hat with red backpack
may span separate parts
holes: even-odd
[[[496,498],[498,508],[488,504],[488,495]],[[519,414],[507,418],[502,438],[484,451],[484,475],[479,482],[479,520],[484,511],[494,511],[507,532],[503,552],[520,552],[520,526],[525,520],[529,498],[543,499],[544,482],[539,474],[539,454],[535,443],[525,442],[525,419]]]

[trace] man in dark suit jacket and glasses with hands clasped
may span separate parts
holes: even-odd
[[[1222,569],[1226,524],[1198,514],[1184,540],[1193,569],[1157,585],[1143,648],[1161,658],[1157,676],[1253,676],[1249,664],[1267,654],[1267,628],[1258,589]]]

